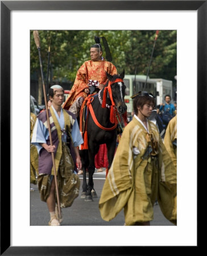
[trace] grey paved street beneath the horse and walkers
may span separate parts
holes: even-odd
[[[72,207],[63,209],[64,221],[63,226],[123,226],[125,218],[123,210],[113,220],[107,222],[102,220],[98,209],[98,201],[100,200],[101,190],[105,181],[105,172],[94,173],[94,189],[97,192],[98,198],[94,198],[92,202],[85,202],[81,199],[82,192],[82,175],[78,175],[81,180],[80,193],[77,199],[74,200]],[[46,203],[40,201],[39,191],[36,185],[31,184],[34,188],[30,192],[31,199],[31,226],[48,225],[49,212]],[[154,206],[154,220],[151,221],[152,226],[171,226],[169,222],[160,212],[159,205]]]

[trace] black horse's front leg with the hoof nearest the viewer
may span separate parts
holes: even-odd
[[[91,144],[91,145],[90,145]],[[86,198],[85,201],[93,201],[92,198],[92,189],[93,189],[93,193],[94,195],[96,195],[96,191],[94,191],[93,188],[93,174],[95,171],[95,164],[94,164],[94,159],[95,159],[95,155],[98,152],[98,148],[99,145],[94,145],[92,143],[89,142],[89,167],[88,167],[88,188],[87,188],[87,193],[86,193]]]

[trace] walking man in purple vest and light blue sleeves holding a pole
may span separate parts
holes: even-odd
[[[42,201],[47,203],[51,220],[49,225],[59,226],[62,221],[58,217],[56,206],[56,190],[54,167],[51,152],[55,154],[57,185],[59,188],[60,207],[70,207],[79,192],[80,180],[76,170],[81,168],[78,146],[83,142],[77,119],[74,114],[64,110],[64,90],[60,85],[53,85],[49,89],[49,99],[52,106],[48,110],[51,126],[52,145],[49,142],[49,131],[46,111],[38,115],[35,123],[32,143],[39,152],[38,188]]]

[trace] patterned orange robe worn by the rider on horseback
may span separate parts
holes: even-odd
[[[76,80],[69,92],[67,100],[63,104],[63,108],[68,110],[78,97],[85,98],[87,96],[84,89],[89,88],[88,80],[97,80],[100,84],[104,84],[107,80],[105,71],[110,75],[117,74],[117,69],[109,61],[85,61],[78,69]]]

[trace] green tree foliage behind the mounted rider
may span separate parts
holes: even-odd
[[[40,76],[38,51],[31,31],[31,74]],[[112,63],[121,73],[146,75],[155,41],[155,30],[45,30],[39,31],[44,75],[47,72],[48,46],[51,42],[50,72],[53,81],[73,82],[78,68],[90,59],[94,36],[105,36],[109,43]],[[175,30],[159,31],[149,76],[174,80],[177,73],[177,34]],[[103,52],[105,56],[105,52]]]

